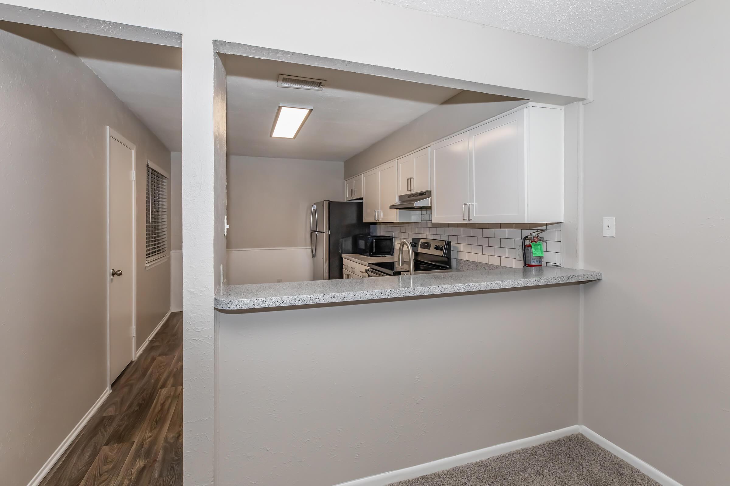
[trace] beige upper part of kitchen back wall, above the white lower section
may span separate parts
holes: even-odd
[[[228,248],[310,246],[310,208],[345,195],[342,162],[228,157]]]

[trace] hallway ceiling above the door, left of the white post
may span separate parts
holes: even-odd
[[[183,150],[179,47],[54,30],[172,152]]]

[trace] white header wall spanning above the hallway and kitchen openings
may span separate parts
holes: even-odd
[[[40,10],[50,7],[47,0],[13,0],[13,4]],[[39,15],[12,6],[0,6],[0,15],[8,20],[113,33],[146,42],[179,42],[180,37],[170,33],[182,33],[183,39],[185,35],[191,39],[195,36],[209,44],[212,39],[220,39],[256,46],[256,52],[267,55],[272,54],[271,50],[301,53],[283,53],[290,62],[309,57],[318,63],[327,58],[337,60],[330,67],[391,74],[459,89],[483,88],[487,93],[522,98],[534,98],[527,91],[554,95],[541,100],[545,102],[588,95],[588,52],[582,47],[380,1],[323,0],[312,9],[293,0],[255,4],[196,0],[180,9],[174,0],[153,4],[142,0],[56,0],[51,7],[55,12],[107,22]],[[302,25],[307,26],[306,36],[301,36]],[[388,35],[374,36],[373,32]],[[228,44],[227,48],[237,50],[235,45]],[[210,68],[210,63],[201,66]]]

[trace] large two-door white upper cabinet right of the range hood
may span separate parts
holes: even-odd
[[[528,106],[431,148],[433,222],[563,221],[562,109]]]

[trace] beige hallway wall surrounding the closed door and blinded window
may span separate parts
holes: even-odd
[[[0,28],[0,471],[26,485],[107,387],[107,125],[137,145],[138,174],[169,151],[50,31]],[[170,270],[145,270],[139,178],[137,208],[141,345]]]

